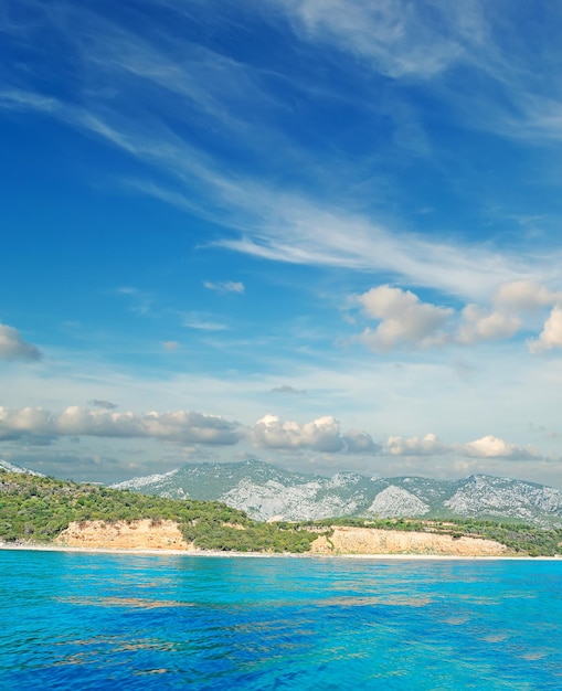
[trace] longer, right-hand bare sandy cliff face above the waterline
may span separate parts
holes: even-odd
[[[314,554],[441,554],[449,556],[507,556],[506,545],[480,538],[453,538],[434,533],[333,528],[330,538],[312,542]]]

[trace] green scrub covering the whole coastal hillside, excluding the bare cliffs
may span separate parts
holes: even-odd
[[[202,550],[308,552],[331,527],[422,531],[495,540],[521,555],[562,554],[562,529],[494,520],[332,518],[259,523],[216,501],[165,499],[128,490],[0,471],[0,541],[50,542],[73,521],[177,521],[187,542]]]

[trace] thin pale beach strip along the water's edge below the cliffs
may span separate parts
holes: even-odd
[[[84,554],[141,554],[149,556],[219,556],[223,559],[250,557],[250,559],[314,559],[314,560],[373,560],[373,561],[455,561],[455,562],[474,562],[474,561],[551,561],[558,562],[562,556],[487,556],[470,555],[463,556],[458,554],[314,554],[310,552],[291,553],[291,552],[226,552],[221,550],[162,550],[150,548],[78,548],[65,546],[59,544],[9,544],[0,543],[0,551],[13,552],[70,552]]]

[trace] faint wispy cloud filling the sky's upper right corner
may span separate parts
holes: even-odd
[[[562,139],[560,8],[383,0],[271,0],[306,41],[331,45],[396,82],[423,82],[468,127],[542,145]],[[537,22],[541,52],[510,24]],[[470,84],[458,88],[459,74]],[[470,107],[467,107],[470,106]]]

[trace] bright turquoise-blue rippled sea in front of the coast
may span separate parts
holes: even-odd
[[[0,689],[562,690],[562,560],[0,550]]]

